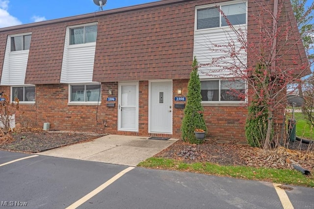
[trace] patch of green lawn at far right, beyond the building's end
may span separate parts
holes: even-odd
[[[292,117],[292,113],[287,113],[287,119]],[[305,120],[304,115],[301,112],[294,113],[296,120],[296,136],[305,139],[314,139],[314,128],[311,127]]]

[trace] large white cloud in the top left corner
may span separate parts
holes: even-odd
[[[8,0],[0,0],[0,27],[21,25],[21,21],[8,13],[8,4]]]

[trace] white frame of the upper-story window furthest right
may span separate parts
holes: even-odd
[[[237,3],[246,3],[246,23],[245,24],[239,24],[236,26],[246,26],[247,25],[247,4],[248,2],[246,0],[234,0],[234,1],[226,1],[226,2],[220,2],[220,3],[211,3],[211,4],[206,4],[206,5],[201,5],[201,6],[195,6],[195,15],[194,15],[194,32],[198,31],[206,31],[206,30],[214,30],[214,29],[219,29],[219,28],[229,28],[229,26],[221,26],[221,14],[219,18],[219,27],[210,27],[210,28],[203,28],[203,29],[197,29],[197,10],[198,9],[205,9],[205,8],[210,8],[210,7],[215,7],[217,5],[221,6],[226,6],[226,5],[232,5],[232,4],[237,4]]]

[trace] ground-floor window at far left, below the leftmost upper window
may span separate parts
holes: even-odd
[[[35,102],[35,86],[13,86],[11,95],[11,101],[18,98],[20,102]]]

